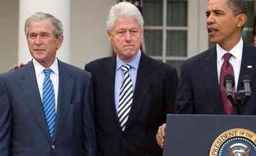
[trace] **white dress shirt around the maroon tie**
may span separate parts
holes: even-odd
[[[235,88],[237,88],[238,79],[239,79],[239,73],[241,68],[241,62],[242,62],[242,55],[243,55],[243,45],[244,42],[242,38],[239,40],[237,45],[233,47],[229,53],[232,54],[231,58],[229,59],[229,63],[233,66],[234,70],[234,78],[235,78]],[[217,70],[218,70],[218,81],[219,81],[219,75],[221,73],[221,66],[224,63],[223,55],[228,53],[223,48],[221,48],[220,45],[216,45],[216,51],[217,51]]]

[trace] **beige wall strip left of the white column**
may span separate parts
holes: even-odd
[[[0,73],[18,60],[19,1],[0,2]]]

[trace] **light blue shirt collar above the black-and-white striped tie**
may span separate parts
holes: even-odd
[[[140,59],[141,59],[141,50],[139,50],[137,52],[136,56],[132,59],[132,61],[129,61],[129,62],[122,61],[119,58],[119,56],[117,55],[117,57],[116,57],[116,70],[119,70],[119,68],[121,68],[121,66],[124,65],[124,64],[128,64],[128,65],[132,66],[132,68],[135,68],[135,69],[138,70]]]

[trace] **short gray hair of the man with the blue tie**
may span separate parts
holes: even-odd
[[[53,29],[53,35],[55,38],[58,38],[60,35],[63,34],[63,26],[62,22],[58,20],[56,17],[49,13],[42,13],[42,12],[37,12],[28,17],[28,19],[25,22],[25,35],[28,37],[28,26],[30,25],[30,22],[32,21],[40,21],[40,20],[45,20],[45,19],[50,19],[51,23],[54,26]]]

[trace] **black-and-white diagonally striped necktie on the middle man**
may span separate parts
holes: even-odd
[[[121,129],[124,131],[126,127],[126,121],[128,120],[129,112],[132,107],[133,100],[133,84],[129,75],[130,65],[122,65],[124,80],[120,88],[119,102],[117,108],[118,120],[121,125]]]

